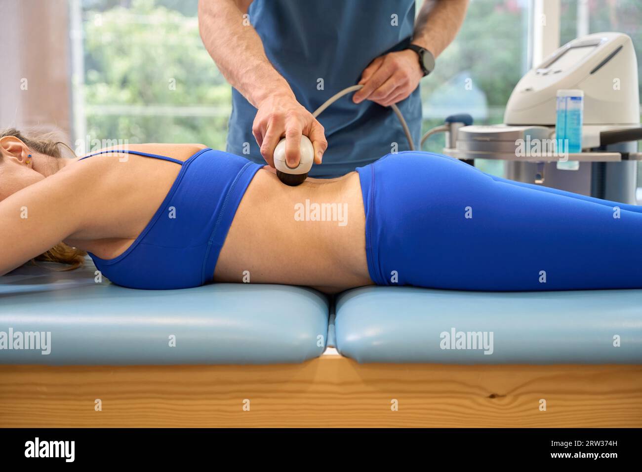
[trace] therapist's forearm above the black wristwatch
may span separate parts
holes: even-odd
[[[424,0],[415,21],[413,44],[440,55],[464,22],[469,0]]]

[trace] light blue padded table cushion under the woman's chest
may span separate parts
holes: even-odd
[[[0,331],[51,332],[51,354],[1,349],[0,363],[294,363],[324,351],[329,306],[315,290],[133,290],[95,283],[94,270],[88,260],[69,272],[25,265],[0,277]],[[176,347],[169,347],[170,335]]]

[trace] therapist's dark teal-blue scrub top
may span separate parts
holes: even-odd
[[[377,56],[407,48],[415,22],[415,0],[254,0],[250,22],[273,66],[288,81],[299,103],[310,112],[336,92],[359,82]],[[393,16],[397,15],[394,26]],[[318,89],[319,79],[323,89]],[[419,87],[397,103],[415,143],[421,134]],[[265,163],[252,135],[256,108],[232,89],[227,151]],[[408,150],[406,135],[390,107],[369,100],[352,103],[347,94],[318,121],[328,142],[323,164],[312,177],[336,177],[391,152]],[[243,153],[249,143],[249,154]]]

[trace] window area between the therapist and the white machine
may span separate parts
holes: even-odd
[[[471,0],[462,29],[422,81],[423,132],[455,113],[470,114],[476,125],[503,123],[510,92],[530,69],[529,13],[527,0]],[[444,134],[437,134],[423,150],[443,148]],[[477,167],[497,175],[503,164],[476,160]]]

